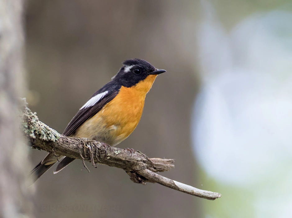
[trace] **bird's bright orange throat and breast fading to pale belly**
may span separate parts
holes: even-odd
[[[157,75],[149,75],[137,85],[121,87],[118,95],[97,114],[84,122],[75,137],[87,137],[117,145],[137,127],[144,108],[145,96]]]

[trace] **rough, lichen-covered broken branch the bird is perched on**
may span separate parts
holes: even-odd
[[[174,168],[174,159],[148,158],[145,154],[133,149],[110,147],[105,143],[87,138],[71,138],[40,122],[36,113],[25,106],[22,113],[22,130],[31,143],[31,147],[53,152],[56,156],[64,155],[95,164],[105,164],[126,171],[135,183],[159,183],[168,188],[191,194],[200,198],[215,200],[221,194],[194,188],[190,185],[171,180],[156,172],[169,171]],[[87,168],[87,167],[86,167]],[[87,168],[88,169],[88,168]],[[89,171],[89,170],[88,170]]]

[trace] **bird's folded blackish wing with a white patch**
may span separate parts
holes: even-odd
[[[63,132],[63,135],[70,136],[71,134],[74,134],[75,131],[88,119],[93,117],[98,111],[100,111],[104,105],[106,105],[108,102],[110,102],[116,95],[119,93],[119,90],[121,88],[121,85],[116,84],[114,81],[111,81],[107,83],[104,87],[102,87],[100,90],[94,93],[93,96],[86,102],[84,106],[87,105],[87,107],[82,107],[76,115],[73,117],[73,119],[70,121],[68,126]],[[105,94],[105,92],[107,92]],[[94,97],[101,97],[99,100],[98,98]]]

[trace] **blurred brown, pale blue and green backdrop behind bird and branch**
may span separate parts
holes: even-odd
[[[175,158],[163,175],[222,194],[76,161],[32,187],[36,217],[292,216],[291,2],[28,0],[25,31],[29,107],[60,133],[123,60],[166,69],[118,146]],[[31,149],[33,165],[45,155]]]

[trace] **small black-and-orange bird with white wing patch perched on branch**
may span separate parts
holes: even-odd
[[[91,96],[80,108],[63,132],[63,135],[94,139],[115,146],[125,140],[137,127],[144,108],[146,94],[158,74],[146,60],[130,59],[110,82]],[[60,172],[74,158],[48,155],[30,172],[33,182],[61,160],[54,171]]]

